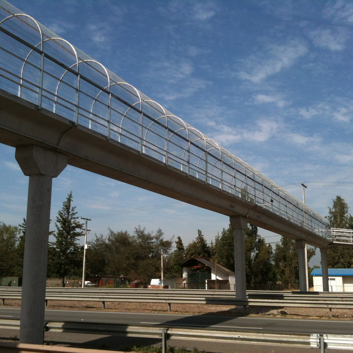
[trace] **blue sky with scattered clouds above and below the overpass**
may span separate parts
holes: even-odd
[[[337,195],[353,205],[352,1],[10,2],[300,200],[306,183],[320,214]],[[0,220],[16,225],[28,178],[13,148],[0,145],[0,162]],[[186,245],[229,223],[70,166],[54,179],[53,220],[70,190],[89,239],[141,225]]]

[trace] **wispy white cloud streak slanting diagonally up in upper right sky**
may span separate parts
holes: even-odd
[[[292,66],[306,52],[306,46],[298,41],[286,45],[272,45],[263,57],[254,55],[243,60],[245,68],[238,72],[238,76],[252,83],[260,83],[268,76]]]

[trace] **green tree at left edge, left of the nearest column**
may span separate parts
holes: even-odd
[[[13,276],[19,229],[0,222],[0,278]]]

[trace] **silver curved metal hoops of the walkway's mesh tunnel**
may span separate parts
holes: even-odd
[[[225,173],[225,170],[227,168],[232,168],[233,169],[233,175],[231,175],[231,174],[229,174],[227,172],[227,185],[229,184],[229,178],[231,177],[231,185],[233,185],[233,187],[234,187],[234,196],[236,196],[237,188],[239,189],[239,187],[236,185],[237,184],[237,180],[239,180],[240,184],[241,184],[240,190],[241,190],[241,188],[243,186],[246,187],[246,192],[248,192],[249,188],[250,188],[250,191],[252,189],[254,190],[253,194],[255,196],[255,200],[254,200],[255,204],[256,204],[256,198],[263,199],[264,201],[267,198],[274,199],[276,204],[272,205],[271,209],[273,209],[273,208],[278,209],[280,214],[281,214],[281,211],[283,211],[283,209],[288,210],[289,212],[287,212],[287,214],[291,215],[293,220],[294,220],[294,218],[297,219],[298,221],[302,220],[303,223],[305,223],[304,227],[307,227],[307,228],[310,227],[311,229],[312,229],[313,225],[314,226],[315,225],[320,225],[320,227],[325,228],[325,229],[327,229],[329,227],[328,221],[323,219],[323,217],[321,215],[317,214],[315,211],[313,211],[312,209],[307,207],[307,205],[304,205],[303,203],[298,201],[295,197],[293,197],[288,192],[283,190],[280,186],[276,185],[271,180],[266,178],[264,175],[259,173],[257,170],[255,170],[254,168],[249,166],[249,164],[245,163],[240,158],[234,156],[229,151],[223,149],[215,141],[209,139],[207,136],[205,136],[203,133],[201,133],[201,131],[197,130],[196,128],[193,128],[193,127],[189,126],[188,124],[185,123],[184,120],[178,118],[177,116],[175,116],[173,114],[169,114],[169,112],[166,109],[164,109],[161,106],[161,104],[159,104],[159,103],[157,103],[157,102],[155,102],[153,100],[142,99],[142,96],[141,96],[140,92],[134,86],[132,86],[132,85],[126,83],[126,82],[116,82],[116,80],[113,79],[113,77],[115,77],[115,74],[113,74],[113,77],[111,77],[111,75],[109,74],[109,72],[106,69],[106,67],[104,65],[100,64],[100,62],[98,62],[98,61],[96,61],[94,59],[91,59],[89,57],[88,57],[88,59],[78,60],[79,59],[79,55],[78,55],[77,49],[74,46],[72,46],[72,44],[70,42],[68,42],[68,41],[66,41],[66,40],[64,40],[64,39],[62,39],[60,37],[50,37],[50,38],[47,38],[47,39],[43,40],[43,33],[44,33],[44,30],[46,30],[46,28],[44,26],[42,26],[39,22],[37,22],[37,20],[35,20],[33,17],[31,17],[29,15],[26,15],[24,13],[15,13],[15,14],[11,14],[11,16],[7,16],[6,18],[2,19],[0,21],[0,25],[3,24],[8,19],[19,17],[19,16],[24,16],[24,17],[27,17],[27,18],[31,19],[35,23],[36,27],[38,28],[38,32],[40,34],[41,41],[40,41],[40,43],[36,44],[36,46],[35,46],[37,48],[38,46],[41,45],[41,52],[42,52],[40,89],[43,88],[42,85],[43,85],[43,58],[44,58],[43,50],[44,50],[44,42],[49,41],[49,40],[54,40],[54,41],[55,40],[60,40],[60,41],[62,40],[68,46],[71,47],[72,53],[76,57],[76,63],[72,64],[70,66],[70,69],[72,69],[74,66],[77,67],[77,70],[76,70],[77,77],[78,77],[77,93],[80,92],[80,88],[79,88],[79,78],[80,78],[79,66],[80,66],[80,64],[82,64],[84,62],[94,62],[95,64],[101,66],[103,71],[105,72],[104,76],[108,80],[108,82],[107,82],[108,85],[105,86],[105,87],[102,87],[101,91],[96,95],[95,98],[92,97],[93,102],[92,102],[91,108],[90,108],[91,115],[93,114],[94,106],[98,102],[99,96],[103,92],[106,92],[109,95],[109,104],[108,104],[107,108],[108,108],[108,110],[111,109],[111,104],[110,104],[110,100],[112,99],[112,92],[110,92],[110,87],[111,86],[113,86],[113,85],[128,85],[136,92],[136,97],[139,98],[139,101],[137,101],[136,103],[134,103],[132,105],[127,103],[128,108],[125,111],[125,113],[122,115],[121,122],[120,122],[120,134],[119,134],[119,136],[121,135],[122,125],[124,123],[124,119],[127,117],[128,112],[130,111],[130,109],[132,109],[137,104],[139,104],[140,105],[140,109],[139,110],[140,110],[140,114],[141,114],[141,122],[140,122],[140,124],[141,124],[140,125],[141,126],[141,141],[142,140],[147,140],[148,132],[151,130],[151,127],[153,126],[153,124],[155,124],[156,122],[158,122],[159,120],[161,120],[163,118],[166,118],[166,126],[164,127],[163,124],[161,124],[161,126],[166,129],[166,137],[162,137],[161,136],[161,138],[163,138],[166,141],[165,142],[165,147],[164,147],[166,159],[168,158],[168,143],[169,143],[169,141],[173,138],[174,135],[185,139],[185,137],[182,137],[179,134],[180,131],[185,130],[186,134],[187,134],[186,142],[188,143],[188,147],[186,149],[184,148],[184,152],[183,152],[183,156],[182,157],[183,157],[183,160],[188,163],[188,173],[189,173],[189,168],[190,168],[190,145],[193,145],[193,146],[195,146],[195,148],[197,148],[197,149],[199,149],[201,151],[200,155],[195,155],[195,157],[197,157],[199,159],[198,163],[197,163],[197,168],[198,169],[202,169],[201,166],[200,166],[200,163],[201,162],[205,163],[205,171],[204,171],[205,172],[205,183],[208,183],[208,175],[210,175],[212,177],[212,175],[214,173],[214,168],[217,168],[218,171],[217,171],[216,174],[220,174],[220,178],[219,178],[218,175],[217,175],[217,178],[220,179],[220,187],[222,189],[223,188],[223,180],[224,180],[223,179],[223,175]],[[49,31],[49,34],[50,33],[51,32]],[[33,50],[34,49],[30,50],[30,52],[26,56],[26,59],[24,60],[24,63],[23,63],[23,66],[22,66],[22,70],[21,70],[21,84],[19,85],[20,87],[22,86],[22,83],[23,83],[22,77],[23,77],[25,65],[29,64],[28,59],[29,59],[30,55],[32,54]],[[66,70],[64,72],[64,74],[61,76],[61,78],[59,79],[59,82],[58,82],[58,85],[56,86],[56,91],[55,91],[55,100],[57,100],[57,97],[58,97],[58,94],[59,94],[60,84],[63,82],[63,79],[64,79],[65,75],[67,74],[67,72],[69,72],[69,71]],[[118,77],[118,76],[116,76],[116,77]],[[111,83],[111,80],[113,81],[113,83]],[[100,85],[96,84],[96,87],[99,88]],[[130,91],[128,90],[128,92],[130,92]],[[130,92],[130,94],[134,95],[133,92]],[[38,106],[41,107],[41,92],[39,92],[38,95],[39,95],[39,97],[38,97]],[[164,113],[164,115],[162,114],[157,119],[150,118],[148,116],[148,114],[145,114],[143,112],[143,102],[151,102],[153,104],[156,104],[158,107],[161,108],[161,111]],[[57,101],[56,101],[56,104],[57,104]],[[77,107],[77,110],[78,110],[79,102],[77,100],[76,100],[76,107]],[[55,110],[55,108],[54,108],[54,110]],[[156,110],[158,110],[158,109],[156,109]],[[138,109],[137,109],[137,111],[138,111]],[[145,115],[146,117],[148,117],[149,119],[152,120],[151,124],[146,128],[146,132],[145,132],[144,138],[142,136],[143,115]],[[91,116],[91,118],[92,118],[92,116]],[[108,124],[110,123],[109,117],[108,117],[108,119],[104,119],[104,120],[108,121]],[[170,129],[169,124],[168,124],[169,120],[175,120],[175,122],[178,121],[178,123],[180,123],[180,128],[175,130],[175,131]],[[107,128],[108,128],[107,134],[109,134],[110,126],[108,126]],[[193,134],[195,134],[195,136],[197,137],[196,139],[194,139],[192,141],[190,140],[190,132],[191,131],[193,131]],[[171,132],[171,134],[169,134],[169,132]],[[203,141],[203,143],[205,145],[205,149],[204,150],[202,149],[201,146],[198,145],[199,141]],[[213,153],[213,150],[217,151],[217,153]],[[217,156],[218,154],[219,154],[219,156]],[[210,155],[213,158],[215,158],[215,161],[210,163],[208,161],[208,159],[209,159],[208,155]],[[230,162],[229,159],[231,159],[232,161]],[[217,166],[217,163],[220,163],[220,167]],[[211,168],[208,168],[209,166],[211,166]],[[237,169],[236,166],[240,166],[240,168]],[[208,170],[208,169],[210,169],[210,170]],[[242,171],[243,169],[244,169],[244,171]],[[242,177],[241,178],[237,178],[237,173],[238,173],[238,175],[240,174]],[[259,177],[259,180],[256,180],[257,179],[256,176]],[[252,180],[252,182],[249,183],[250,180]],[[259,181],[261,181],[261,182],[259,183]],[[261,185],[260,189],[258,187],[256,188],[256,184],[257,183],[259,183]],[[267,191],[265,191],[266,189],[267,189]],[[318,230],[318,232],[320,232],[320,230]]]

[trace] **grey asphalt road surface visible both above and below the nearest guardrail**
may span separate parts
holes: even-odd
[[[20,309],[0,308],[0,319],[19,319]],[[353,321],[336,319],[292,319],[292,318],[263,318],[263,317],[226,317],[209,315],[175,315],[159,313],[130,313],[107,311],[74,311],[74,310],[46,310],[46,321],[71,321],[71,322],[95,322],[117,324],[142,324],[142,325],[166,325],[169,327],[199,327],[220,328],[236,331],[258,331],[275,333],[320,333],[320,334],[353,334]],[[14,336],[14,330],[0,330],[0,337]],[[18,335],[18,333],[17,333]],[[62,345],[84,347],[120,349],[133,345],[160,345],[161,340],[148,338],[121,337],[96,334],[74,334],[47,332],[46,340]],[[192,349],[198,347],[207,352],[246,352],[246,353],[299,353],[303,347],[285,347],[254,345],[242,343],[213,343],[196,341],[171,340],[168,344],[175,347]],[[308,349],[309,346],[308,346]],[[305,350],[305,349],[304,349]],[[319,352],[312,350],[311,352]],[[343,353],[344,350],[327,350],[328,353]],[[308,352],[309,353],[309,352]]]

